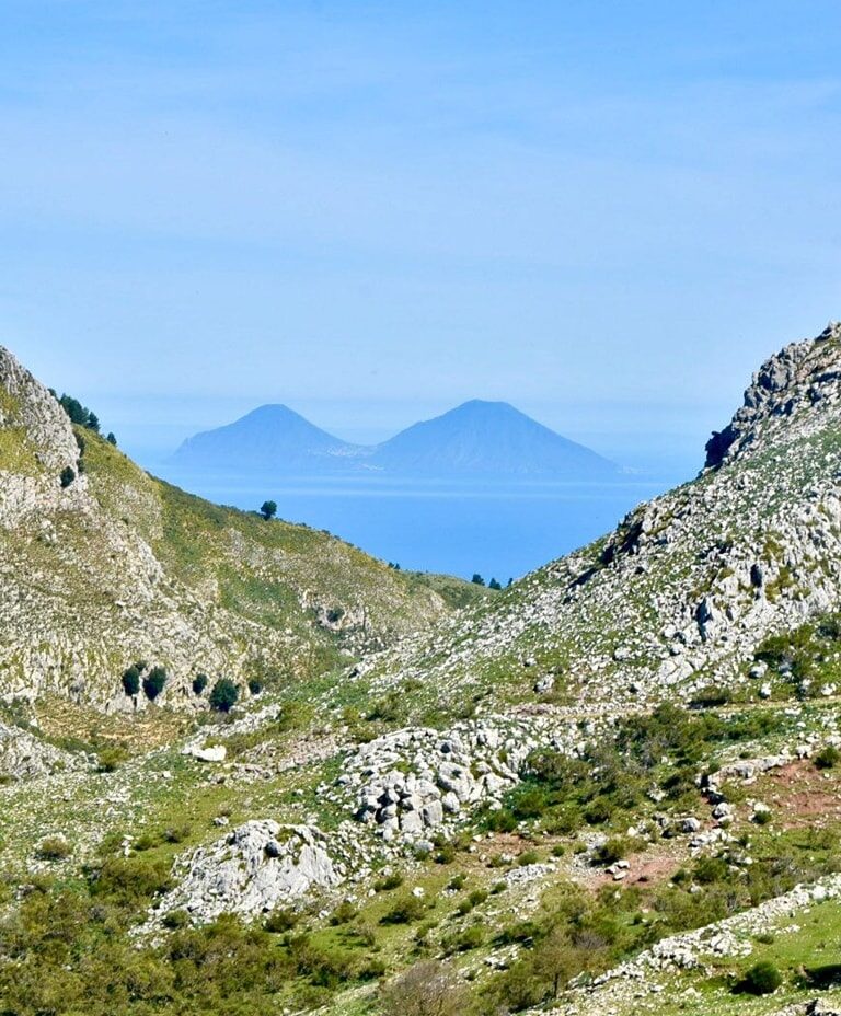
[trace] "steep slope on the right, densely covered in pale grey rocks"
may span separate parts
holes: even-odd
[[[721,686],[770,695],[758,647],[841,597],[841,326],[763,365],[707,451],[692,483],[370,673],[445,698],[539,685],[594,709]]]

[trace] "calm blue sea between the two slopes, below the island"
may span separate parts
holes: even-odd
[[[365,477],[281,483],[168,476],[212,501],[326,529],[403,568],[505,584],[612,529],[640,501],[670,486],[655,480],[612,483],[419,483]]]

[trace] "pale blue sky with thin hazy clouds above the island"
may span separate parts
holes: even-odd
[[[146,460],[500,399],[690,472],[841,316],[838,0],[0,0],[0,343]]]

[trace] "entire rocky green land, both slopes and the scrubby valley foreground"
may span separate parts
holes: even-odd
[[[160,484],[7,360],[0,1012],[841,1012],[839,365],[787,347],[695,481],[468,602]],[[172,708],[197,659],[298,678]]]

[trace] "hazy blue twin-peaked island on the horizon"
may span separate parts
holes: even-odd
[[[580,482],[622,470],[506,402],[465,402],[380,444],[354,444],[285,405],[265,405],[188,438],[168,463],[177,474],[365,475]]]

